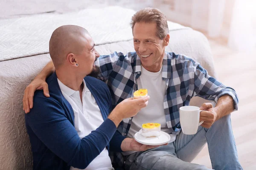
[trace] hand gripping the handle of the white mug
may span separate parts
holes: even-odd
[[[204,110],[204,111],[201,111],[200,113],[199,122],[204,121],[204,123],[202,123],[201,126],[210,128],[212,124],[218,120],[218,114],[214,110],[212,103],[204,103],[200,107],[200,110]]]

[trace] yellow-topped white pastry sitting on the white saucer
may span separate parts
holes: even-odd
[[[145,123],[142,125],[141,135],[145,137],[156,137],[161,134],[160,123]]]

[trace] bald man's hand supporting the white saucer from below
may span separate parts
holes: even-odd
[[[163,145],[167,145],[168,143],[166,144],[163,144]],[[155,147],[159,147],[159,146],[162,146],[162,145],[156,145],[156,146],[152,146],[152,145],[146,145],[146,144],[141,144],[139,142],[137,142],[135,139],[132,139],[132,138],[125,138],[121,144],[121,149],[122,151],[145,151],[145,150],[148,150],[148,149],[152,149],[152,148],[155,148]]]

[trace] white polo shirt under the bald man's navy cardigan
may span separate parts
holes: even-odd
[[[89,135],[91,131],[96,130],[103,122],[102,114],[99,110],[93,95],[87,88],[84,80],[84,88],[82,91],[82,101],[80,99],[79,91],[64,85],[59,79],[58,84],[65,99],[70,103],[74,111],[74,123],[76,131],[80,139]],[[88,153],[90,154],[90,153]],[[70,167],[70,170],[79,170]],[[84,170],[113,170],[108,150],[105,148]]]

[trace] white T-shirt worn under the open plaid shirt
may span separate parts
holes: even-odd
[[[166,125],[166,119],[163,109],[163,99],[166,94],[167,85],[162,78],[162,68],[157,73],[147,71],[143,66],[141,66],[141,75],[137,79],[138,89],[146,88],[148,89],[148,95],[150,99],[148,100],[147,107],[140,110],[136,116],[133,117],[131,121],[131,127],[128,132],[128,137],[134,138],[135,133],[141,129],[141,125],[144,123],[160,123],[161,131],[168,133],[171,137],[169,142],[173,142],[176,139],[176,135],[171,134]],[[127,155],[134,153],[126,152],[123,153]]]

